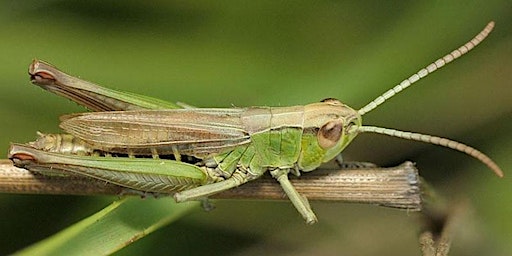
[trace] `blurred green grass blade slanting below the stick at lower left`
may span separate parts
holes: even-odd
[[[121,199],[16,255],[112,254],[179,219],[193,207],[197,202],[176,204],[171,198]]]

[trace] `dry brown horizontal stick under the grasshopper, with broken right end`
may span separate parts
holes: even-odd
[[[366,203],[421,210],[418,170],[406,162],[392,168],[316,170],[292,177],[299,193],[310,200]],[[123,187],[82,176],[45,176],[0,160],[0,193],[54,195],[136,194]],[[218,199],[285,199],[278,183],[264,176],[238,188],[219,193]]]

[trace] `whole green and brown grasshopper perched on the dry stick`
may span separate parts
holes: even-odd
[[[291,107],[193,108],[106,89],[35,60],[29,69],[33,83],[101,112],[65,115],[60,127],[68,134],[40,134],[35,142],[12,144],[9,157],[18,166],[42,173],[73,173],[137,191],[174,193],[177,202],[203,199],[270,172],[308,224],[317,218],[288,174],[299,176],[338,158],[359,133],[452,148],[477,158],[502,177],[496,163],[470,146],[437,136],[363,126],[361,118],[473,49],[493,27],[490,22],[471,41],[359,110],[336,99]],[[128,157],[105,157],[119,154]],[[162,159],[164,155],[174,160]]]

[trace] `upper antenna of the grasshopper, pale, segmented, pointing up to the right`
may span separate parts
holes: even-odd
[[[425,68],[418,71],[416,74],[410,76],[409,78],[405,79],[392,89],[389,89],[385,93],[383,93],[381,96],[377,97],[372,102],[368,103],[366,106],[358,110],[359,115],[364,115],[372,110],[374,110],[377,106],[384,103],[386,100],[390,99],[391,97],[395,96],[395,94],[399,93],[400,91],[404,90],[405,88],[411,86],[413,83],[417,82],[418,80],[426,77],[427,75],[433,73],[434,71],[440,69],[444,65],[452,62],[453,60],[459,58],[460,56],[466,54],[467,52],[471,51],[475,46],[477,46],[480,42],[482,42],[487,35],[492,31],[494,28],[494,21],[491,21],[485,26],[485,28],[478,33],[471,41],[467,42],[463,46],[459,47],[458,49],[452,51],[449,54],[446,54],[444,57],[439,58],[435,62],[431,63],[430,65],[426,66]]]

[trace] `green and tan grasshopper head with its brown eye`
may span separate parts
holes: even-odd
[[[306,105],[299,167],[311,171],[336,157],[354,139],[361,116],[337,99]]]

